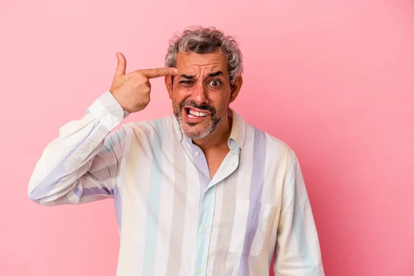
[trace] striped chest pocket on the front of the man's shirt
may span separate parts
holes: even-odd
[[[237,200],[230,252],[257,256],[268,242],[276,207],[260,202]]]

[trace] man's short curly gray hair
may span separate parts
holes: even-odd
[[[165,66],[177,66],[178,52],[206,54],[214,52],[217,48],[220,48],[226,57],[228,72],[230,72],[230,82],[233,84],[235,78],[242,75],[243,72],[242,52],[240,52],[239,44],[234,37],[225,36],[224,32],[214,27],[190,26],[182,34],[176,34],[170,40]]]

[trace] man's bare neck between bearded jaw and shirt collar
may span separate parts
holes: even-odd
[[[227,141],[230,137],[232,123],[233,119],[229,117],[228,112],[226,112],[223,121],[221,121],[219,126],[217,126],[213,132],[207,135],[207,137],[193,140],[193,143],[199,146],[201,150],[210,150],[213,148],[220,148],[222,146],[227,147]]]

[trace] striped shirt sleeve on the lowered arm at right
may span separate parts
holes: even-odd
[[[295,152],[288,162],[273,269],[276,276],[323,276],[315,221]]]

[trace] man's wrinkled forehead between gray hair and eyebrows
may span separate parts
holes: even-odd
[[[226,57],[220,50],[206,54],[195,52],[179,52],[177,55],[177,70],[182,73],[201,73],[222,71],[228,74]]]

